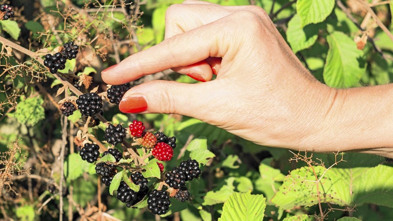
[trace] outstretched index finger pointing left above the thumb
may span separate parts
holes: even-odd
[[[111,85],[119,85],[134,81],[147,74],[153,74],[173,67],[187,66],[211,57],[223,57],[228,50],[235,50],[231,42],[222,39],[224,36],[234,35],[233,26],[241,14],[221,18],[216,24],[209,23],[199,28],[175,35],[147,50],[133,54],[118,65],[104,70],[103,81]],[[240,24],[240,23],[239,23]],[[219,32],[220,35],[216,33]],[[230,39],[235,41],[235,37]],[[238,47],[239,44],[236,44]],[[224,49],[224,50],[222,50]],[[230,53],[234,56],[235,53]],[[233,57],[229,57],[232,59]],[[207,78],[210,73],[206,74]],[[207,80],[207,79],[206,79]]]

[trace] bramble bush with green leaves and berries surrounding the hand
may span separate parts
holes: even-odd
[[[336,88],[391,83],[393,1],[211,0],[262,7]],[[391,160],[264,147],[175,114],[122,114],[100,72],[161,42],[178,0],[0,2],[0,220],[383,221]],[[381,95],[383,96],[383,95]]]

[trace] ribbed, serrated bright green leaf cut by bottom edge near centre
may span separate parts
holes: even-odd
[[[265,208],[266,198],[263,195],[235,192],[224,203],[219,221],[261,221]]]

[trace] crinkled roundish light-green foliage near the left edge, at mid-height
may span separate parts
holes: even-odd
[[[43,103],[44,100],[40,96],[27,98],[18,103],[14,113],[8,115],[16,118],[20,124],[34,126],[45,118]]]

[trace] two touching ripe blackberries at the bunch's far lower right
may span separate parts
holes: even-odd
[[[175,167],[172,171],[165,173],[165,183],[174,189],[180,189],[186,181],[199,177],[202,171],[199,169],[199,163],[196,160],[185,160],[180,162],[180,166]]]

